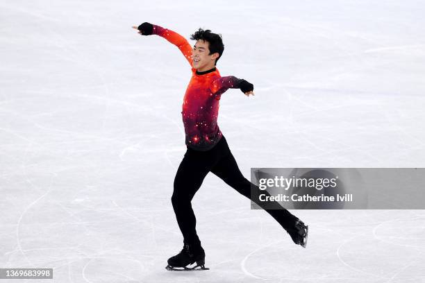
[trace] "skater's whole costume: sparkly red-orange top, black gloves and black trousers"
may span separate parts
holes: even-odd
[[[159,35],[176,45],[192,67],[192,46],[184,37],[167,28],[148,23],[140,25],[139,30],[143,35]],[[247,85],[249,86],[246,87]],[[199,249],[202,249],[201,241],[195,229],[196,218],[191,200],[209,172],[217,175],[247,198],[251,196],[251,186],[252,189],[259,191],[258,187],[251,184],[240,172],[226,138],[217,125],[219,99],[229,88],[240,88],[242,92],[248,92],[252,90],[252,85],[234,76],[222,77],[216,68],[198,72],[192,67],[192,78],[183,98],[181,113],[188,149],[174,179],[172,204],[184,242]],[[263,191],[262,194],[267,192]],[[258,205],[263,207],[264,204],[258,203]],[[294,223],[298,218],[278,203],[274,209],[267,209],[267,212],[296,241],[297,230]]]

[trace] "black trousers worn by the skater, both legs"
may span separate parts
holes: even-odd
[[[194,151],[188,148],[180,166],[178,166],[176,178],[174,178],[174,192],[172,204],[176,214],[178,227],[180,228],[185,243],[199,245],[199,237],[195,229],[196,218],[193,213],[191,200],[198,191],[203,179],[213,172],[224,180],[227,185],[233,187],[240,194],[250,198],[251,182],[244,178],[238,168],[224,136],[209,151]],[[255,185],[253,185],[255,186]],[[255,186],[258,189],[257,186]],[[259,189],[258,189],[259,190]],[[267,194],[262,191],[262,194]],[[262,207],[262,203],[257,203]],[[276,203],[279,209],[266,209],[273,218],[288,232],[294,232],[294,223],[297,217]]]

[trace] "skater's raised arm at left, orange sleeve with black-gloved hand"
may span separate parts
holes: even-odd
[[[190,46],[185,37],[174,31],[170,31],[168,28],[163,28],[156,24],[149,24],[147,22],[144,22],[140,26],[133,26],[133,28],[137,29],[140,35],[159,35],[160,37],[164,37],[168,42],[171,42],[180,49],[181,53],[183,53],[192,67],[192,46]]]

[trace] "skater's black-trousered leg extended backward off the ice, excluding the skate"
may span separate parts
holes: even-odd
[[[226,140],[224,140],[226,141]],[[228,145],[225,143],[227,149]],[[251,198],[251,185],[253,189],[260,191],[258,186],[251,184],[249,180],[244,178],[238,164],[236,163],[235,157],[231,153],[230,149],[226,150],[226,155],[219,160],[219,162],[211,169],[211,172],[217,175],[217,177],[221,178],[228,184],[233,187],[240,194],[246,196],[247,198]],[[261,194],[268,194],[267,191],[261,191]],[[257,205],[264,207],[264,203],[260,201],[256,201]],[[292,215],[287,209],[283,208],[276,202],[268,203],[268,205],[272,205],[269,207],[270,209],[265,209],[279,224],[290,234],[294,232],[294,223],[298,220],[298,218]]]

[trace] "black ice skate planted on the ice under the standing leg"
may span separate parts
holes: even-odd
[[[196,266],[190,265],[196,262]],[[206,271],[205,251],[201,246],[190,246],[187,243],[183,246],[183,250],[168,259],[168,265],[165,267],[167,271]]]

